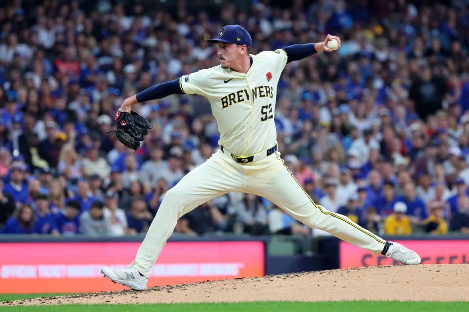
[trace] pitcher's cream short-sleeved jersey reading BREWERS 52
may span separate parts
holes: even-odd
[[[238,156],[254,155],[277,143],[275,100],[287,54],[276,50],[251,57],[246,74],[218,65],[179,79],[183,92],[209,100],[220,132],[218,144]]]

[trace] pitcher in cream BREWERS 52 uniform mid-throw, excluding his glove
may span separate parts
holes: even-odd
[[[145,289],[177,220],[228,192],[263,196],[311,228],[329,232],[374,254],[384,254],[396,263],[420,263],[419,255],[412,250],[386,242],[348,217],[315,203],[277,150],[277,83],[285,65],[322,50],[331,52],[327,43],[333,39],[340,47],[339,37],[327,35],[323,42],[294,44],[251,55],[249,33],[237,24],[227,25],[218,38],[208,40],[218,44],[220,65],[150,87],[124,101],[119,110],[130,112],[132,105],[171,94],[201,95],[212,106],[220,148],[166,193],[132,264],[121,270],[103,267],[106,277],[135,290]]]

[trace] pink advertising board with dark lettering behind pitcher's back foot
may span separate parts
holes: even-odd
[[[396,240],[414,250],[422,264],[469,263],[469,239]],[[355,245],[340,242],[341,269],[398,264],[382,254],[376,255]]]

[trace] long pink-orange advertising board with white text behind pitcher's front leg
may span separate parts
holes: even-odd
[[[139,242],[0,243],[0,293],[127,289],[101,267],[124,268]],[[168,242],[148,287],[264,275],[261,241]]]

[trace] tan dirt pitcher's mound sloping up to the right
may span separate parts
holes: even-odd
[[[469,264],[380,266],[267,275],[0,302],[10,305],[235,302],[257,300],[468,301]]]

